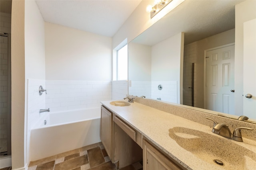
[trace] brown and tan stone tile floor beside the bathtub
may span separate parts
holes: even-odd
[[[9,167],[8,167],[9,168]],[[3,168],[2,168],[3,169]],[[1,170],[2,170],[1,169]],[[3,169],[10,170],[10,169]],[[79,149],[30,162],[28,170],[117,170],[112,164],[102,143],[95,143]],[[142,162],[120,170],[142,170]]]

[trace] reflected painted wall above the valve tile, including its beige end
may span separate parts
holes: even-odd
[[[153,45],[151,51],[151,80],[177,81],[177,102],[182,104],[184,33]]]

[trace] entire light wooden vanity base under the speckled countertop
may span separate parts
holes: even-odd
[[[117,169],[143,159],[144,170],[181,170],[178,163],[174,163],[104,106],[101,106],[100,139]]]

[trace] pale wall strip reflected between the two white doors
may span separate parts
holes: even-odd
[[[243,74],[244,74],[244,22],[256,18],[256,1],[248,0],[236,5],[235,38],[235,114],[243,113]]]

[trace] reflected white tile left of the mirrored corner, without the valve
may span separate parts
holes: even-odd
[[[131,81],[129,94],[134,96],[146,96],[151,98],[151,81]]]

